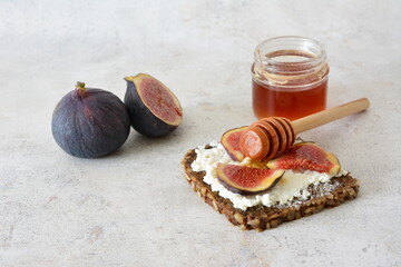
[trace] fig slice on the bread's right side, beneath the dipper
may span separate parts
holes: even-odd
[[[341,168],[339,159],[314,142],[299,142],[285,154],[267,162],[270,169],[306,169],[338,175]]]

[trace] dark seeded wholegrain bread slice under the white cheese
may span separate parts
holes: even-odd
[[[206,146],[207,147],[207,146]],[[183,158],[182,166],[185,177],[193,190],[196,191],[205,202],[212,206],[219,214],[243,230],[255,229],[262,231],[277,227],[282,222],[300,219],[321,211],[323,208],[336,207],[345,200],[354,199],[358,196],[360,182],[349,174],[341,177],[333,177],[327,191],[324,185],[310,186],[307,190],[311,196],[306,200],[294,199],[288,205],[266,207],[263,205],[247,208],[246,210],[234,208],[229,199],[221,197],[212,191],[209,185],[204,182],[205,171],[194,171],[190,167],[196,159],[195,149],[189,150]]]

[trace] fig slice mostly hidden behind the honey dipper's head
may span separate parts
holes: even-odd
[[[227,151],[228,156],[235,161],[242,161],[245,156],[241,152],[239,148],[239,137],[243,130],[247,127],[239,127],[227,130],[223,134],[221,138],[221,144],[223,145],[224,149]]]

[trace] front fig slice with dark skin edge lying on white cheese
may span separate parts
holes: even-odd
[[[284,170],[218,164],[217,178],[225,188],[242,195],[258,195],[274,187]]]

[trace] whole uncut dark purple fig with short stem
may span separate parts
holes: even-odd
[[[79,158],[98,158],[116,151],[129,135],[129,116],[123,101],[109,91],[77,82],[56,106],[51,131],[56,142]]]

